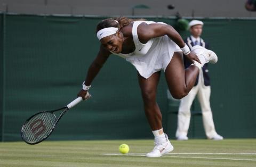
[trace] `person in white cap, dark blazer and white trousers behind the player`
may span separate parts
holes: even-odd
[[[190,49],[195,45],[200,45],[206,49],[209,49],[209,45],[200,38],[203,30],[203,22],[199,20],[192,20],[189,22],[189,30],[191,36],[187,37],[185,43]],[[185,68],[188,68],[190,61],[184,56]],[[205,63],[203,68],[200,69],[196,79],[194,87],[190,90],[189,94],[183,97],[180,101],[179,112],[178,112],[178,127],[176,131],[177,140],[188,140],[188,128],[190,123],[190,107],[197,95],[198,101],[201,105],[203,124],[205,133],[208,139],[222,140],[223,137],[218,135],[215,131],[212,110],[210,106],[210,77],[209,70],[207,69],[208,63]]]

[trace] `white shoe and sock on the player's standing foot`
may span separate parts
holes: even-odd
[[[154,144],[155,147],[153,151],[148,153],[146,155],[147,157],[160,157],[166,153],[173,151],[173,146],[165,133],[160,137],[156,137]]]

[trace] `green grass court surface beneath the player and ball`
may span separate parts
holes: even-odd
[[[104,155],[118,154],[123,143],[130,146],[129,154]],[[171,143],[172,154],[148,158],[138,153],[151,151],[153,140],[43,141],[38,145],[6,142],[0,143],[0,166],[256,166],[256,139]]]

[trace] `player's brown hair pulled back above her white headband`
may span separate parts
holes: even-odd
[[[118,23],[115,20],[118,21]],[[96,33],[99,30],[103,28],[108,28],[108,27],[116,27],[119,30],[121,30],[123,27],[129,25],[131,22],[137,21],[137,20],[145,20],[145,19],[129,19],[125,17],[119,17],[119,18],[109,18],[109,19],[101,20],[97,25]]]

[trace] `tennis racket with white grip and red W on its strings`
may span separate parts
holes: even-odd
[[[86,94],[85,98],[90,98],[89,93]],[[73,102],[67,106],[52,111],[42,111],[30,118],[23,124],[21,128],[21,137],[27,144],[38,144],[41,141],[49,137],[54,130],[56,124],[59,122],[63,114],[65,114],[70,108],[77,105],[83,100],[82,97],[77,97]],[[54,112],[60,111],[61,114],[57,118]]]

